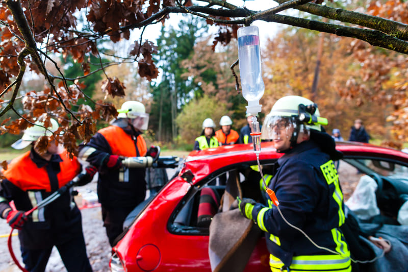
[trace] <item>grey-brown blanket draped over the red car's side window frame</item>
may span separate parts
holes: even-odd
[[[241,272],[257,245],[262,231],[241,215],[236,198],[242,197],[239,174],[230,171],[222,195],[222,212],[217,213],[210,225],[208,254],[214,272]]]

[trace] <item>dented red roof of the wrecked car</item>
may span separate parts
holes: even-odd
[[[347,157],[381,157],[408,164],[408,154],[373,144],[336,142],[336,149]],[[276,152],[276,149],[273,147],[273,142],[262,142],[261,153],[259,155],[261,161],[274,160],[281,156],[283,156],[283,154]],[[194,184],[203,177],[225,166],[248,162],[256,165],[256,160],[257,157],[253,153],[252,144],[223,145],[201,151],[192,151],[185,158],[184,167],[180,175],[191,170],[194,175],[194,179],[191,182]]]

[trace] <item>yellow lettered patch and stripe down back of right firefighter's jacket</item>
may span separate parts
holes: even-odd
[[[339,174],[337,173],[336,166],[332,160],[329,160],[325,164],[320,165],[320,169],[323,172],[324,179],[326,180],[327,184],[330,185],[334,183],[335,191],[333,192],[333,199],[339,205],[339,227],[344,224],[345,215],[343,211],[343,193],[340,189],[339,184]]]

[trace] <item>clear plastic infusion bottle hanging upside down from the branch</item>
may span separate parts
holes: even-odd
[[[247,113],[261,112],[259,100],[265,91],[261,71],[259,30],[256,26],[238,29],[238,57],[242,95],[248,101]]]

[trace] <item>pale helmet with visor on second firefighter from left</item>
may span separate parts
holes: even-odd
[[[133,126],[139,130],[147,130],[149,115],[144,105],[138,101],[126,101],[118,111],[118,118],[135,119]]]

